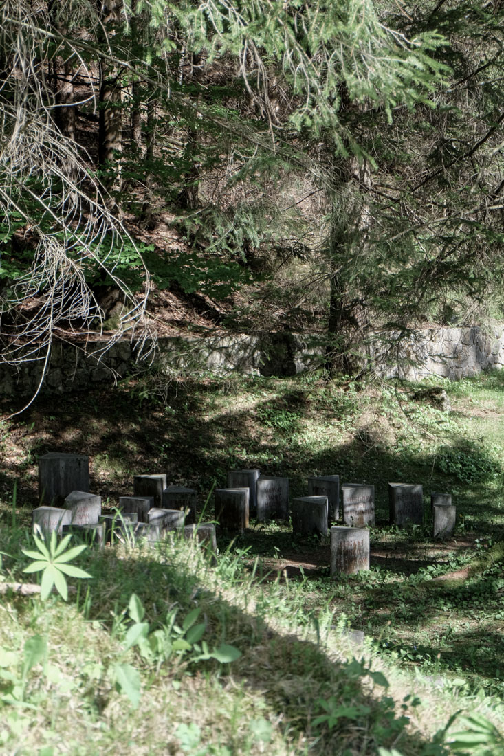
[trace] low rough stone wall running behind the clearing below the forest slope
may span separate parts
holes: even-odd
[[[384,353],[376,342],[372,355]],[[87,354],[82,345],[56,342],[42,391],[62,394],[85,390],[99,384],[114,384],[130,371],[147,368],[136,361],[135,349],[127,340],[115,343],[101,355],[100,342],[88,342]],[[173,336],[159,339],[155,367],[161,376],[232,373],[289,376],[318,367],[323,360],[324,345],[314,336],[292,333],[266,333],[259,336]],[[397,349],[392,350],[397,355]],[[95,352],[95,355],[92,354]],[[490,328],[429,327],[412,332],[399,349],[402,360],[384,360],[387,376],[399,375],[409,380],[440,376],[456,380],[474,376],[491,367],[504,367],[504,324]],[[40,363],[27,362],[20,367],[0,363],[0,395],[30,396],[39,386]]]

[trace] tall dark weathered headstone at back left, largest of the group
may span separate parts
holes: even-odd
[[[63,503],[71,491],[89,491],[89,457],[50,451],[39,457],[39,501]]]

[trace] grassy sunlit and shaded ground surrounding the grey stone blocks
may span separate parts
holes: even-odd
[[[117,743],[122,752],[140,753],[375,753],[400,736],[401,752],[427,754],[442,752],[425,749],[434,748],[434,733],[457,707],[493,710],[499,721],[502,562],[483,560],[471,571],[468,565],[504,540],[504,376],[486,373],[436,385],[449,395],[451,411],[415,399],[418,386],[361,390],[347,380],[235,376],[173,383],[166,401],[158,400],[159,386],[148,380],[58,402],[40,399],[23,416],[5,420],[0,550],[14,554],[11,561],[4,558],[5,577],[14,571],[19,579],[26,563],[19,547],[28,534],[21,533],[36,506],[36,458],[46,451],[89,454],[93,491],[104,496],[105,507],[131,492],[135,472],[166,471],[170,482],[197,488],[203,503],[214,483],[226,485],[228,469],[253,466],[288,476],[292,496],[306,494],[306,477],[319,473],[373,483],[377,503],[372,570],[355,578],[331,581],[323,539],[300,542],[282,523],[253,523],[217,569],[179,547],[140,556],[107,550],[83,560],[93,575],[86,600],[81,591],[66,607],[51,597],[43,611],[36,599],[0,601],[0,645],[18,651],[30,633],[48,637],[51,664],[56,659],[61,680],[75,683],[63,692],[38,674],[30,685],[44,704],[36,717],[32,710],[9,710],[7,735],[1,735],[5,752],[12,742],[19,743],[17,752],[38,753],[45,743],[54,753],[89,752],[80,739],[92,733],[95,751],[104,753]],[[12,409],[4,406],[6,414]],[[422,482],[426,504],[430,491],[451,492],[456,538],[433,543],[428,521],[410,531],[390,528],[387,482],[393,480]],[[20,531],[11,528],[16,481]],[[221,552],[228,547],[219,539]],[[121,613],[132,593],[145,606],[151,629],[166,623],[170,607],[184,616],[201,606],[208,642],[226,640],[243,652],[231,674],[229,665],[216,660],[191,665],[179,659],[153,674],[138,649],[125,655],[130,620]],[[114,617],[121,616],[126,626],[118,631]],[[351,649],[348,657],[348,644],[331,630],[338,624],[366,634],[370,645],[359,669],[352,666]],[[117,692],[110,671],[121,658],[142,675],[135,711]],[[366,674],[370,658],[374,669],[385,670],[387,691]],[[401,714],[413,689],[424,702],[413,708],[412,699],[404,703],[415,735],[390,718],[393,711]],[[74,698],[75,742],[58,751],[54,733],[63,732],[60,721],[68,727]],[[350,714],[337,712],[331,727],[327,719],[314,727],[336,705],[327,704],[331,699],[352,702]],[[30,723],[23,736],[17,717]]]

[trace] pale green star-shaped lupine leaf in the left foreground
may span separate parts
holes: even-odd
[[[75,565],[69,565],[72,559],[79,556],[83,550],[86,549],[85,544],[80,546],[74,546],[71,549],[67,549],[70,543],[71,535],[66,535],[61,539],[58,544],[56,538],[56,532],[52,531],[51,540],[46,545],[42,538],[33,536],[38,551],[31,551],[22,549],[23,554],[29,556],[30,559],[34,559],[30,565],[23,569],[23,572],[42,572],[42,580],[40,582],[40,598],[42,601],[47,599],[53,585],[58,590],[58,593],[64,601],[68,598],[68,587],[65,575],[69,575],[70,578],[91,578],[89,572],[85,572],[83,569],[76,567]]]

